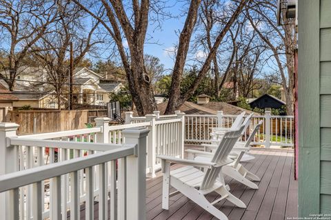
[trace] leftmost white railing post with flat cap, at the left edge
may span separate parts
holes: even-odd
[[[19,170],[19,147],[10,146],[8,137],[17,137],[17,123],[0,123],[0,175]],[[0,193],[0,213],[4,219],[9,219],[9,192]]]

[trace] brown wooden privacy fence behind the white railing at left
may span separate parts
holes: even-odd
[[[86,128],[96,117],[106,117],[107,110],[14,110],[8,121],[19,124],[18,134],[35,134]]]

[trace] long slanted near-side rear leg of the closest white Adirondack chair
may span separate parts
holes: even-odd
[[[188,197],[188,199],[194,201],[194,203],[197,203],[201,206],[201,208],[214,215],[214,217],[221,220],[228,220],[228,217],[223,212],[212,206],[212,204],[205,199],[205,196],[196,188],[183,184],[183,182],[176,178],[171,178],[171,186],[183,193],[185,197]]]

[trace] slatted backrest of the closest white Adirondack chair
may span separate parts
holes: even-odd
[[[239,137],[241,137],[241,132],[243,131],[244,127],[245,126],[243,125],[239,130],[231,130],[224,134],[221,142],[219,143],[219,147],[212,157],[212,163],[222,163],[228,158],[228,155],[234,147],[234,144],[238,141]],[[219,172],[221,172],[221,167],[212,167],[208,169],[207,172],[205,172],[200,189],[209,189],[214,186],[214,182],[216,181]]]

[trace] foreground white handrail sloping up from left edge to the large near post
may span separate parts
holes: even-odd
[[[126,144],[126,147],[97,154],[91,154],[86,157],[79,157],[70,159],[68,161],[61,161],[59,163],[50,163],[46,166],[39,166],[28,170],[21,170],[0,176],[0,192],[26,186],[31,183],[58,177],[63,174],[82,170],[91,166],[96,166],[101,163],[106,163],[114,159],[127,157],[134,154],[135,144]]]

